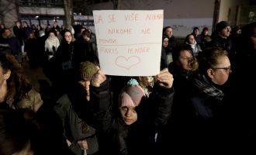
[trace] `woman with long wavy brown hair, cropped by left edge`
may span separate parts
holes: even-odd
[[[29,108],[36,112],[43,101],[28,79],[21,64],[11,53],[0,53],[0,108]]]

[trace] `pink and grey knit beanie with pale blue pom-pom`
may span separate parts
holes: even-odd
[[[135,79],[128,81],[126,87],[123,88],[119,95],[119,107],[133,106],[140,104],[141,98],[145,96],[144,89],[140,87]]]

